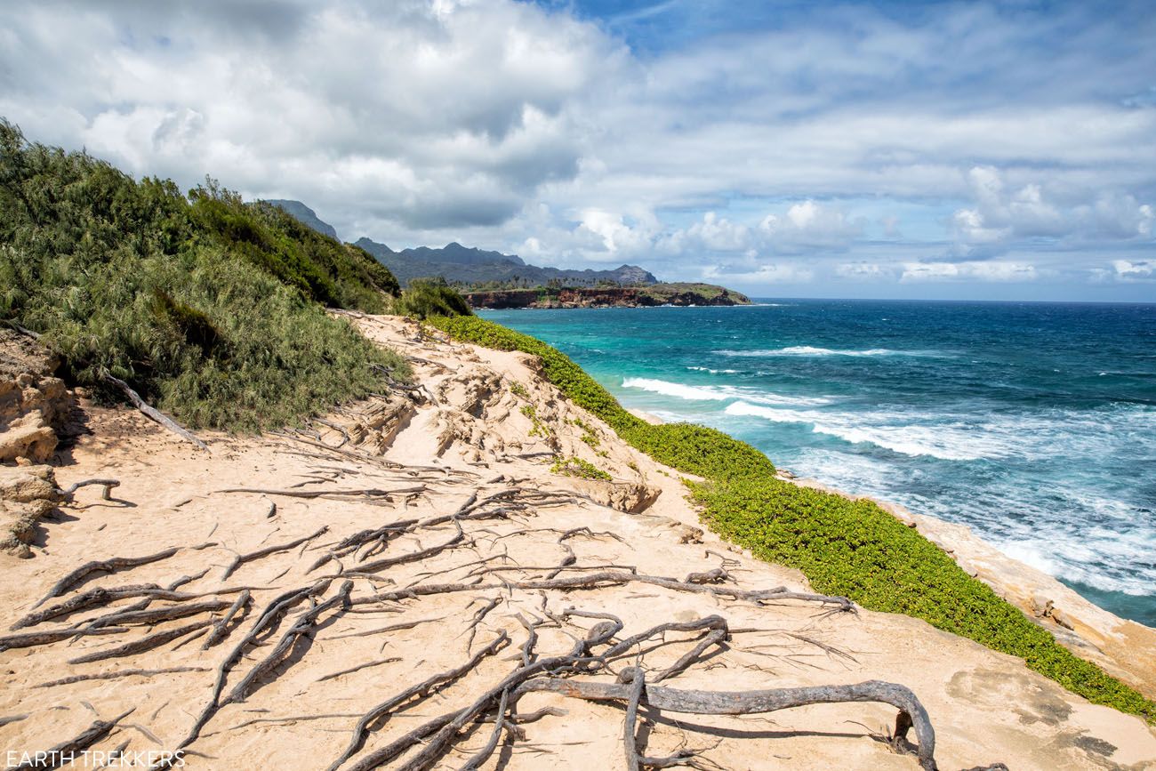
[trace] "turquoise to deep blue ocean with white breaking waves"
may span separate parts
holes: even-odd
[[[1156,305],[756,302],[482,316],[627,407],[970,525],[1156,625]]]

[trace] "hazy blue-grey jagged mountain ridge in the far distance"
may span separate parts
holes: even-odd
[[[269,200],[269,203],[284,209],[304,225],[320,233],[336,238],[333,225],[318,218],[317,213],[301,201]],[[568,269],[539,267],[527,265],[517,254],[488,252],[486,250],[462,246],[452,242],[442,249],[417,246],[395,252],[385,244],[379,244],[366,237],[358,238],[358,246],[390,268],[402,286],[413,279],[443,276],[450,283],[477,287],[483,284],[520,284],[526,287],[544,287],[551,281],[595,286],[600,282],[613,282],[622,286],[649,286],[658,283],[649,270],[637,265],[622,265],[613,270]]]

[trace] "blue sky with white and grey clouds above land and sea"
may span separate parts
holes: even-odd
[[[1156,302],[1140,2],[0,0],[0,116],[346,240]]]

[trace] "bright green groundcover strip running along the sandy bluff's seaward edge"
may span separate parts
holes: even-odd
[[[922,618],[1017,655],[1092,703],[1156,722],[1156,703],[1074,655],[875,503],[784,482],[765,455],[713,429],[650,425],[540,340],[476,317],[430,323],[458,340],[541,356],[547,379],[572,401],[659,462],[703,479],[688,484],[703,506],[705,524],[765,559],[800,569],[816,591],[849,596],[872,610]]]

